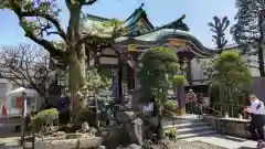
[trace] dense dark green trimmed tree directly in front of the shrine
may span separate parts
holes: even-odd
[[[157,103],[165,103],[172,77],[179,71],[176,53],[168,47],[155,47],[142,54],[140,63],[138,77],[142,99],[149,102],[155,96]]]

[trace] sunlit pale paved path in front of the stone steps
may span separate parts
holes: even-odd
[[[256,149],[256,141],[242,139],[242,138],[235,138],[231,136],[224,136],[224,135],[210,135],[210,136],[202,136],[202,137],[195,137],[195,138],[188,138],[184,139],[187,141],[203,141],[211,145],[224,147],[227,149]]]

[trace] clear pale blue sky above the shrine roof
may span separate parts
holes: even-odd
[[[68,13],[63,3],[61,21],[66,28]],[[186,14],[184,22],[190,26],[191,33],[195,35],[205,46],[213,47],[212,33],[208,22],[212,21],[213,15],[229,17],[231,23],[234,23],[235,7],[234,0],[98,0],[92,7],[84,8],[84,12],[124,20],[129,17],[136,8],[145,2],[145,10],[148,13],[150,22],[159,26]],[[0,10],[0,44],[30,43],[25,39],[22,29],[18,24],[17,17],[9,10]],[[227,39],[231,42],[232,38]]]

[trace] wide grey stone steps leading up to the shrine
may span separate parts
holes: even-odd
[[[180,118],[163,119],[165,130],[176,127],[178,139],[187,139],[206,135],[218,134],[210,125],[199,118]]]

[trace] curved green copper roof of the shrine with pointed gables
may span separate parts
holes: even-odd
[[[186,15],[170,22],[166,25],[155,28],[148,20],[146,11],[142,9],[144,3],[135,10],[135,12],[125,20],[123,26],[127,28],[128,33],[124,36],[116,39],[116,43],[123,44],[124,42],[135,40],[142,41],[146,43],[159,43],[165,39],[181,39],[187,40],[189,43],[194,45],[202,53],[218,53],[218,50],[211,50],[205,46],[192,34],[190,34],[189,26],[183,22]],[[86,14],[83,17],[82,29],[89,30],[95,29],[93,21],[109,21],[110,19],[95,17],[92,14]]]

